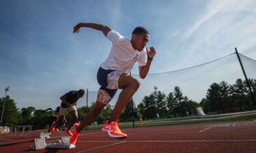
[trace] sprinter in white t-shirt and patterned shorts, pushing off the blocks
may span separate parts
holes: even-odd
[[[145,47],[150,39],[150,33],[144,27],[137,27],[132,32],[131,39],[128,39],[105,25],[95,23],[79,23],[74,27],[73,33],[79,33],[81,27],[101,31],[112,42],[112,48],[108,58],[98,69],[97,80],[101,87],[98,90],[96,104],[80,125],[74,124],[74,134],[70,143],[76,143],[82,129],[102,112],[102,109],[114,97],[117,89],[122,89],[122,92],[102,131],[110,137],[125,138],[127,135],[119,130],[117,119],[140,86],[139,81],[129,75],[134,63],[139,63],[139,76],[144,79],[156,54],[153,47],[150,50]]]

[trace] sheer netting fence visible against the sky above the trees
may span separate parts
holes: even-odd
[[[242,54],[240,54],[240,58],[247,78],[255,79],[256,61]],[[166,94],[172,92],[175,86],[179,86],[183,95],[199,103],[201,99],[205,98],[208,88],[214,82],[220,83],[224,81],[228,84],[235,84],[238,78],[244,80],[244,74],[236,53],[186,69],[148,74],[145,79],[139,78],[137,74],[132,74],[132,76],[141,82],[139,90],[133,97],[136,105],[141,102],[143,97],[154,92],[155,86]],[[119,92],[120,90],[111,101],[111,105],[115,105]],[[88,92],[88,105],[96,101],[97,93],[98,90]]]

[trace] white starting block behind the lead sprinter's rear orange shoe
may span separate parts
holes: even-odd
[[[45,143],[44,137],[35,139],[35,146],[29,147],[29,150],[42,150],[45,148],[53,149],[72,149],[76,148],[74,144],[70,144],[70,137],[61,137],[61,140],[54,143]]]

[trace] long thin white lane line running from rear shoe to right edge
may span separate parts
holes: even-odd
[[[256,139],[208,139],[208,140],[129,140],[129,141],[121,141],[120,143],[128,143],[128,142],[227,142],[227,141],[256,141]],[[119,142],[119,141],[83,141],[80,142]],[[113,143],[119,144],[119,143]]]

